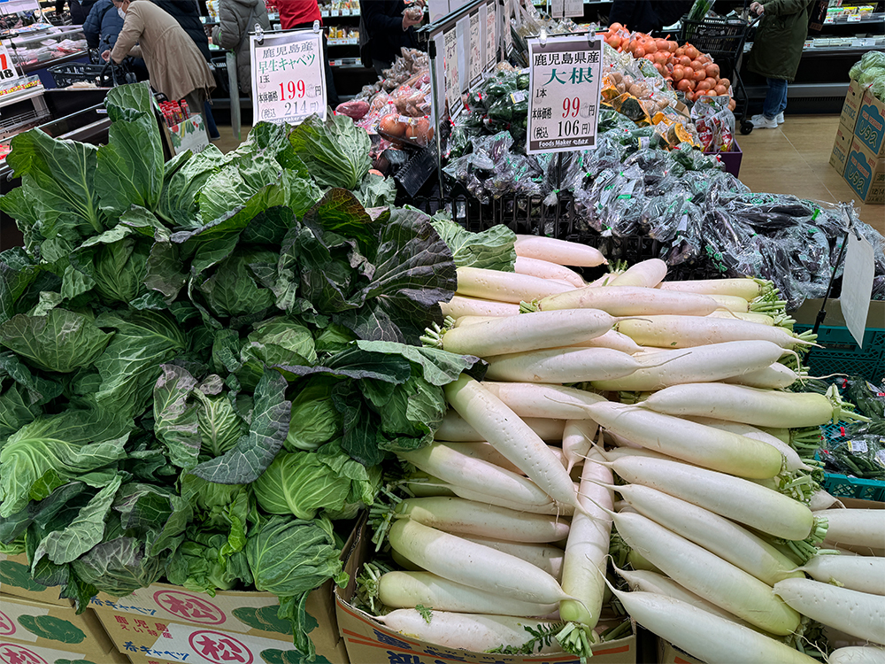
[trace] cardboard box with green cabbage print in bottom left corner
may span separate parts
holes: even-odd
[[[77,615],[67,606],[5,595],[0,595],[0,638],[42,648],[88,653],[98,659],[101,659],[99,655],[114,649],[102,623],[90,609]],[[0,657],[0,661],[5,660]]]

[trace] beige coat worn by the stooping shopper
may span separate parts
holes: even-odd
[[[178,21],[148,0],[129,4],[111,51],[117,63],[127,55],[144,58],[150,86],[169,99],[182,99],[197,89],[208,93],[215,87],[215,78],[194,40]]]

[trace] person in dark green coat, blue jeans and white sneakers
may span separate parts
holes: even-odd
[[[796,78],[802,47],[808,36],[808,17],[817,0],[769,0],[750,4],[762,15],[747,68],[766,77],[768,92],[762,112],[750,118],[757,129],[775,129],[787,108],[787,83]]]

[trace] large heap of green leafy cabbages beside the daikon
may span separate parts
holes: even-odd
[[[80,607],[162,578],[273,592],[309,653],[307,594],[346,579],[331,520],[430,443],[475,361],[409,345],[455,264],[350,119],[164,162],[152,103],[113,89],[99,148],[12,140],[0,546]]]

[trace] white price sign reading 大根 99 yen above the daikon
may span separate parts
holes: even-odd
[[[602,52],[596,35],[529,40],[529,154],[596,147]]]

